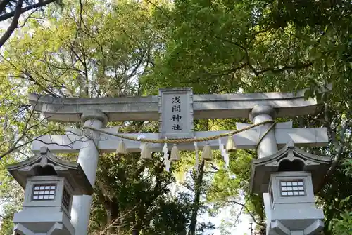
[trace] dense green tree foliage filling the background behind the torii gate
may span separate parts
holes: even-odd
[[[42,13],[20,18],[23,27],[1,48],[0,234],[11,233],[12,215],[23,197],[6,164],[32,156],[30,142],[36,135],[80,127],[48,122],[33,112],[28,92],[122,97],[156,94],[168,86],[191,86],[194,93],[308,88],[307,98],[316,96],[322,105],[315,114],[294,119],[294,126],[328,130],[327,147],[306,149],[334,160],[318,192],[325,234],[350,234],[350,1],[87,0],[65,1],[63,8],[48,4],[42,11],[45,18]],[[327,84],[332,91],[320,95],[318,88]],[[235,121],[248,120],[196,121],[195,128],[230,130]],[[158,130],[150,121],[109,125],[122,126],[127,133]],[[212,163],[200,162],[198,169],[193,168],[194,153],[184,152],[170,173],[163,169],[160,154],[153,158],[144,163],[139,154],[101,154],[92,234],[211,234],[214,224],[201,217],[238,206],[222,224],[222,234],[230,234],[242,212],[263,231],[262,199],[248,189],[254,149],[232,155],[229,168],[216,152]]]

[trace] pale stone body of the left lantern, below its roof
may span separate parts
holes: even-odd
[[[54,199],[32,200],[34,187],[48,184],[55,184]],[[64,177],[29,177],[25,188],[23,210],[13,216],[16,234],[73,235],[75,229],[70,223],[70,205],[68,208],[63,206],[64,188],[72,196],[74,189],[69,180]]]

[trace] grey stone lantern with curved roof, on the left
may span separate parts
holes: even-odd
[[[40,154],[8,166],[25,189],[23,210],[15,213],[15,235],[73,235],[70,213],[74,195],[93,193],[79,163],[58,159],[42,147]]]

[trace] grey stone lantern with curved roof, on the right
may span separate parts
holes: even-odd
[[[267,235],[313,235],[324,227],[314,189],[331,159],[304,152],[289,142],[276,154],[253,159],[251,191],[263,193]]]

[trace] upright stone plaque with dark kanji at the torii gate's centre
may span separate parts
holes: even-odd
[[[159,123],[162,138],[194,137],[192,88],[159,90]]]

